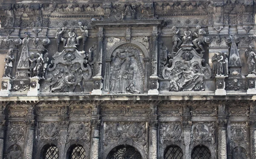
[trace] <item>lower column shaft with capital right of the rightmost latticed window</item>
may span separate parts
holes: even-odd
[[[227,159],[227,121],[218,122],[218,159]]]

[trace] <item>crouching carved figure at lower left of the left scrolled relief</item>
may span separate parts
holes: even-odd
[[[64,78],[61,78],[59,81],[56,82],[56,86],[52,87],[52,90],[50,92],[68,92],[68,87],[75,84],[75,82],[72,82],[74,78],[74,75],[67,75]]]

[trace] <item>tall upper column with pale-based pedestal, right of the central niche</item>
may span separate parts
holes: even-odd
[[[158,55],[158,32],[157,26],[153,26],[152,32],[152,51],[151,51],[151,75],[149,77],[150,90],[148,90],[148,95],[159,95],[158,92],[158,76],[157,76],[157,55]]]

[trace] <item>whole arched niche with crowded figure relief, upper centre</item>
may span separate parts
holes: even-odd
[[[108,93],[144,93],[148,87],[148,62],[149,53],[142,43],[135,40],[116,43],[106,55],[104,90]]]

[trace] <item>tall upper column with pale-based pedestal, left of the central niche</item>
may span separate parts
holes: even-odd
[[[102,95],[102,44],[103,44],[103,27],[99,27],[98,45],[97,45],[97,62],[95,64],[95,76],[93,77],[93,91],[91,95]]]

